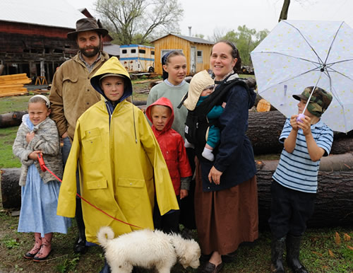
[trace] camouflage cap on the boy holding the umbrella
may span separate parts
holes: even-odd
[[[308,100],[311,91],[313,91],[313,86],[306,87],[300,95],[293,95],[293,98],[296,100]],[[328,105],[330,105],[331,101],[332,95],[330,93],[323,90],[323,88],[316,87],[306,109],[308,109],[312,115],[321,117],[325,110],[328,109]]]

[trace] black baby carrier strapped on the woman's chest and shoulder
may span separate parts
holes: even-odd
[[[227,80],[227,79],[226,79]],[[215,125],[216,127],[219,126],[219,121],[214,120],[213,122],[209,122],[207,118],[208,112],[215,106],[215,105],[222,105],[225,101],[228,91],[236,86],[240,85],[243,86],[249,94],[249,108],[251,108],[251,96],[253,95],[253,89],[249,88],[246,84],[244,79],[232,79],[230,81],[221,81],[215,83],[220,83],[215,91],[211,93],[208,98],[205,98],[203,102],[198,105],[195,110],[188,110],[188,115],[186,117],[185,122],[185,137],[186,139],[195,146],[196,155],[198,158],[201,158],[201,153],[203,152],[203,148],[207,141],[208,136],[208,129]],[[186,93],[181,103],[178,105],[178,108],[181,108],[181,105],[184,103],[184,100],[188,97]]]

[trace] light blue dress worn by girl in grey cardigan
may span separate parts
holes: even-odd
[[[29,119],[26,124],[33,129]],[[67,233],[71,219],[56,215],[59,190],[59,181],[44,184],[35,164],[29,166],[25,186],[21,189],[18,232],[37,232],[42,237],[51,232]]]

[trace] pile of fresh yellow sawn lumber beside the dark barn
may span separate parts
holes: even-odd
[[[31,81],[25,73],[0,76],[0,97],[28,93],[27,88],[23,86]]]

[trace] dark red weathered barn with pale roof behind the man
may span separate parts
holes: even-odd
[[[25,73],[35,83],[37,76],[52,81],[56,67],[78,51],[66,34],[76,29],[82,13],[65,0],[1,0],[0,64],[4,74]],[[104,42],[112,37],[107,35]]]

